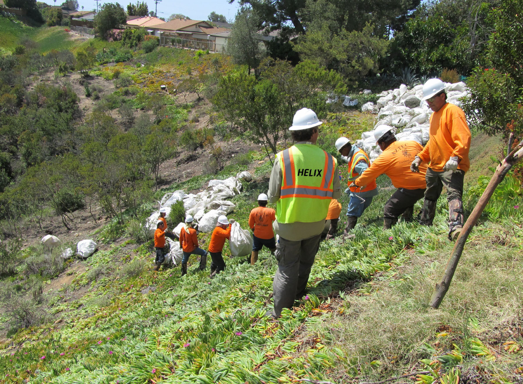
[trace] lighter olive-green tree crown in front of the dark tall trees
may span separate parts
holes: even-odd
[[[361,32],[346,30],[332,35],[327,26],[300,37],[295,50],[302,58],[310,59],[327,69],[336,70],[351,82],[357,82],[370,71],[378,71],[389,42],[374,35],[367,24]]]

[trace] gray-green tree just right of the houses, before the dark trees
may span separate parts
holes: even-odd
[[[237,64],[247,64],[247,73],[256,68],[265,54],[258,34],[258,17],[252,9],[242,8],[236,14],[227,49]]]

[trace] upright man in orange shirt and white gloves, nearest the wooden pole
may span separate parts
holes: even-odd
[[[436,202],[443,186],[449,202],[449,239],[456,240],[463,227],[463,177],[469,170],[470,130],[460,107],[447,103],[445,84],[430,78],[423,86],[423,99],[431,110],[429,140],[411,164],[418,172],[422,162],[428,163],[420,224],[432,225]]]

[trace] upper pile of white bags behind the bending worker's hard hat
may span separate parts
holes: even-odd
[[[469,95],[467,85],[463,82],[445,83],[447,86],[447,101],[460,105],[461,98]],[[429,118],[432,113],[426,101],[423,99],[423,85],[416,85],[408,89],[402,84],[399,88],[383,91],[376,105],[366,103],[361,107],[362,111],[378,114],[376,125],[386,125],[396,130],[396,139],[414,140],[425,145],[429,137]],[[370,161],[376,159],[381,150],[376,145],[376,139],[372,131],[363,132],[361,140],[356,141],[363,151],[369,154]]]

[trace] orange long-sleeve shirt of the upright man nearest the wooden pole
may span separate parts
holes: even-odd
[[[461,108],[447,103],[430,115],[429,140],[417,155],[436,172],[442,172],[450,157],[457,156],[458,169],[467,172],[470,167],[470,137]]]

